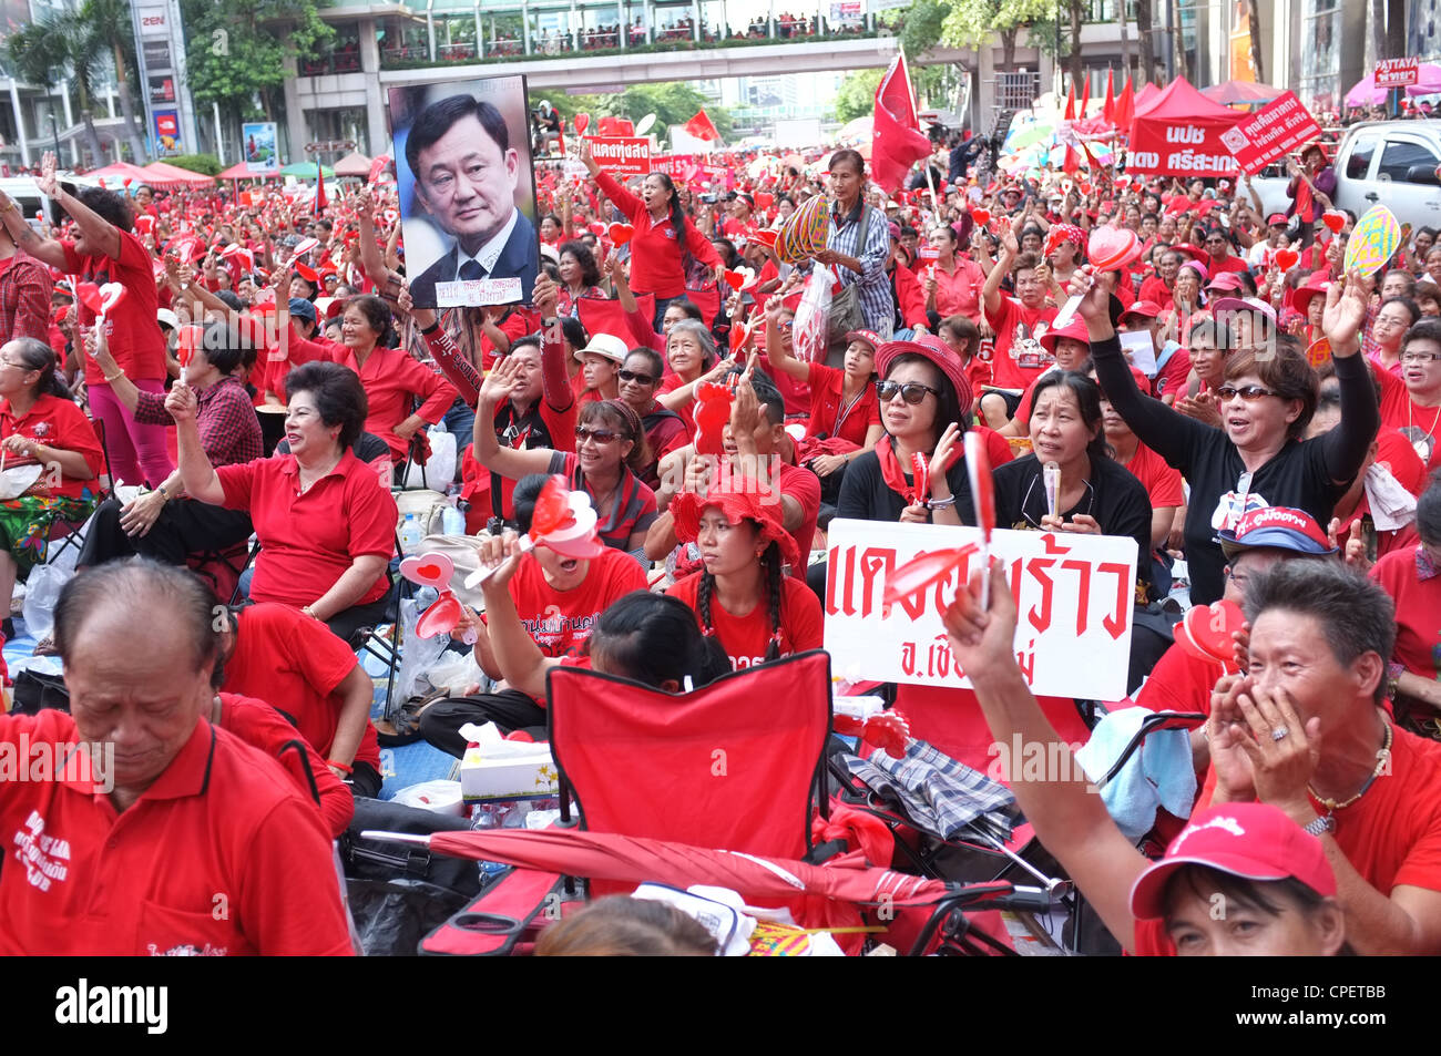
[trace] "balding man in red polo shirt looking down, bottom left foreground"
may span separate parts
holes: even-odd
[[[0,782],[0,955],[352,952],[314,804],[205,717],[213,601],[146,559],[66,583],[55,644],[71,713],[0,716],[0,749],[52,761]]]

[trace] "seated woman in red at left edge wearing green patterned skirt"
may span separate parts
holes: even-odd
[[[14,581],[45,560],[50,524],[81,520],[89,484],[105,468],[95,429],[55,373],[55,353],[33,337],[0,347],[0,612]],[[59,473],[56,473],[59,470]],[[12,637],[10,619],[3,621]]]

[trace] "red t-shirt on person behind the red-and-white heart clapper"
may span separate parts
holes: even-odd
[[[601,614],[617,599],[646,588],[640,562],[610,549],[591,558],[585,579],[574,591],[550,586],[539,560],[522,560],[509,583],[526,634],[548,657],[579,655]]]

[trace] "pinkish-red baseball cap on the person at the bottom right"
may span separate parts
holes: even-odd
[[[1192,814],[1166,857],[1131,887],[1131,913],[1137,919],[1166,915],[1166,885],[1183,866],[1219,869],[1245,880],[1294,877],[1321,898],[1336,895],[1336,873],[1321,841],[1264,802],[1228,802]]]

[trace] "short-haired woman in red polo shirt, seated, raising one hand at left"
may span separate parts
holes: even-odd
[[[298,608],[349,638],[385,615],[395,500],[350,449],[366,418],[354,372],[307,363],[287,375],[285,390],[290,451],[215,470],[200,445],[195,392],[173,386],[166,411],[179,426],[180,477],[193,498],[249,510],[261,542],[254,601]]]

